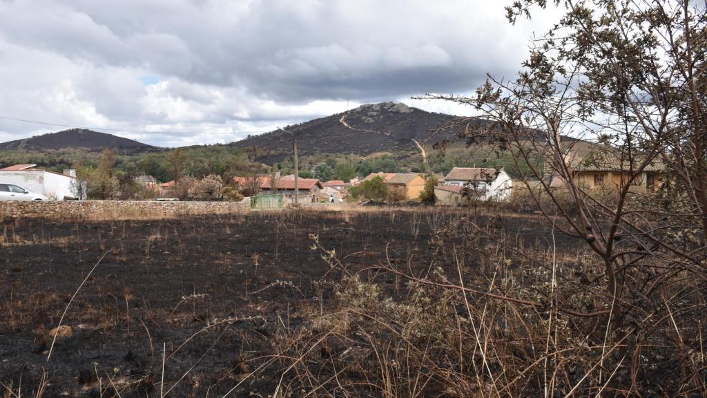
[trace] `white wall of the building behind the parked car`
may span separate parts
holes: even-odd
[[[79,199],[86,199],[85,183],[79,182],[76,178],[49,171],[0,171],[0,182],[16,184],[28,191],[41,193],[54,200],[63,200],[64,197],[78,198],[78,191],[82,191],[81,196],[83,196]],[[83,187],[81,190],[78,189],[79,183]]]

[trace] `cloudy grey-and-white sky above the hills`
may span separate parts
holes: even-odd
[[[64,127],[231,142],[362,103],[513,76],[546,20],[500,0],[0,0],[0,142]]]

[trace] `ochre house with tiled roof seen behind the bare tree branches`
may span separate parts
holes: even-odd
[[[660,177],[665,169],[660,161],[651,161],[641,173],[631,177],[631,161],[628,157],[612,150],[594,151],[586,157],[575,157],[568,162],[571,165],[572,179],[583,188],[619,188],[626,183],[631,188],[656,191],[660,186]],[[641,163],[640,155],[633,157],[633,166]],[[629,181],[630,180],[630,181]]]

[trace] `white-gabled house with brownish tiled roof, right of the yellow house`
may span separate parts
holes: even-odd
[[[445,186],[468,188],[479,200],[508,200],[513,183],[503,169],[455,167],[444,178]]]

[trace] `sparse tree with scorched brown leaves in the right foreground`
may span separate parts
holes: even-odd
[[[457,128],[459,140],[508,151],[537,210],[554,229],[583,239],[602,264],[601,278],[583,286],[595,297],[592,306],[556,305],[578,319],[607,322],[596,342],[616,349],[592,359],[602,369],[618,370],[621,358],[634,358],[628,371],[611,379],[615,391],[634,394],[641,383],[641,394],[686,394],[704,386],[697,381],[704,380],[704,368],[648,346],[674,346],[671,353],[700,349],[694,341],[701,340],[695,332],[701,326],[693,314],[706,309],[696,294],[707,280],[705,5],[554,4],[563,4],[565,15],[542,40],[534,40],[516,79],[489,77],[474,96],[433,98],[476,108],[480,118],[444,128]],[[536,5],[547,1],[515,1],[508,18],[531,17]],[[582,156],[577,149],[585,142],[568,135],[597,144]],[[575,178],[575,166],[592,154],[623,170],[610,191],[590,190]],[[660,191],[636,191],[655,165],[665,171]],[[550,186],[554,179],[562,181],[561,189]],[[701,282],[679,288],[681,278]],[[673,343],[670,335],[676,333],[681,343]],[[655,379],[645,363],[666,371]],[[668,363],[683,370],[667,370]],[[609,380],[599,370],[588,388],[603,389],[604,382]]]

